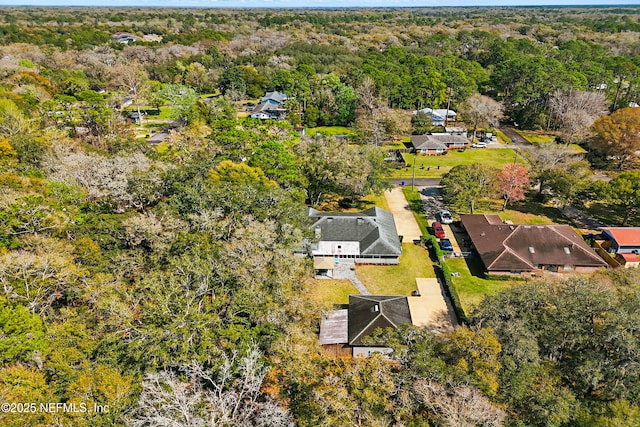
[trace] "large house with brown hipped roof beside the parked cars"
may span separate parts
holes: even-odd
[[[489,274],[592,273],[607,264],[568,225],[505,224],[498,215],[460,215]]]

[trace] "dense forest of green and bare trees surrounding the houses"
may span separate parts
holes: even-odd
[[[640,269],[505,282],[336,358],[297,256],[308,207],[408,176],[385,157],[425,107],[553,135],[443,166],[456,212],[640,226],[639,36],[622,6],[2,8],[0,424],[640,425]],[[273,91],[286,119],[251,118]]]

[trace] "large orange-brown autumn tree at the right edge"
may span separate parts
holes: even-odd
[[[618,162],[620,170],[629,168],[640,151],[640,108],[622,108],[599,117],[592,126],[595,137],[589,145]]]

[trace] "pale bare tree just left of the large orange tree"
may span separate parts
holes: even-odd
[[[589,136],[595,119],[607,113],[607,98],[602,92],[557,91],[550,100],[549,109],[562,138],[571,144]]]

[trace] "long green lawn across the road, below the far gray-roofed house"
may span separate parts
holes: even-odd
[[[417,158],[417,178],[440,178],[456,165],[471,165],[482,163],[487,166],[501,168],[507,163],[526,163],[522,156],[516,155],[510,148],[470,148],[463,152],[449,151],[443,156],[414,156],[405,153],[402,155],[407,162],[407,167],[392,171],[391,178],[411,178],[413,175],[413,161]]]

